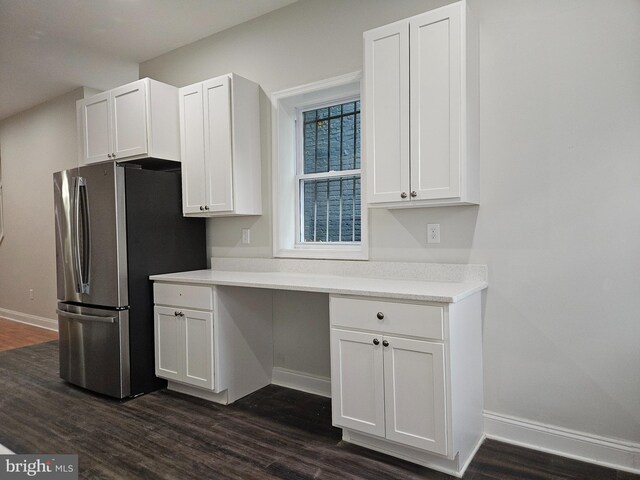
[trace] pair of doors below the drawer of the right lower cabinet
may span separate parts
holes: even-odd
[[[444,345],[331,329],[333,423],[447,454]]]

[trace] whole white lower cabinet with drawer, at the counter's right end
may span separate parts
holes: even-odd
[[[330,303],[332,416],[343,438],[462,475],[483,439],[480,296]]]

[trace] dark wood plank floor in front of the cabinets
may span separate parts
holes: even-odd
[[[58,378],[57,342],[0,352],[0,444],[76,453],[92,479],[449,479],[348,445],[328,399],[269,386],[227,407],[177,393],[127,402]],[[467,480],[639,480],[640,476],[487,440]]]

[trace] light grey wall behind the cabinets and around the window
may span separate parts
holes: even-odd
[[[268,95],[360,69],[363,30],[442,3],[302,0],[144,63],[141,76],[183,86],[235,71]],[[640,442],[640,2],[470,4],[481,206],[372,210],[371,259],[488,264],[486,409]],[[266,213],[209,221],[215,255],[271,252],[267,98]],[[440,245],[426,246],[427,223],[441,224]]]

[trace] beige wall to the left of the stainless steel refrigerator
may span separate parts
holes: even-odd
[[[83,94],[76,89],[0,122],[0,316],[57,328],[52,175],[78,164],[76,100]]]

